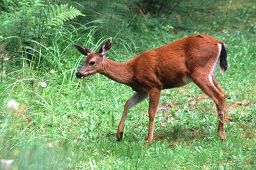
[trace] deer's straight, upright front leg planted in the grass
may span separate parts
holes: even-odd
[[[161,90],[157,88],[149,91],[149,132],[146,139],[146,145],[151,144],[153,141],[155,114],[160,100],[160,93]]]

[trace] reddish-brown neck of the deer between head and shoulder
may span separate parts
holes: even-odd
[[[101,74],[113,81],[129,86],[133,78],[132,68],[130,67],[131,64],[129,63],[130,61],[127,61],[126,63],[117,63],[108,58],[104,58],[104,66]]]

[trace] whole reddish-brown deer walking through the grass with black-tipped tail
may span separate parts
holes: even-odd
[[[118,140],[123,137],[124,122],[130,107],[149,96],[149,131],[146,141],[152,143],[154,119],[161,90],[180,87],[191,81],[215,102],[218,110],[219,138],[226,140],[226,94],[215,78],[218,63],[222,74],[227,70],[227,51],[224,42],[208,35],[192,35],[158,49],[143,52],[125,63],[116,63],[105,57],[111,43],[112,38],[109,38],[98,52],[74,44],[80,53],[87,56],[76,76],[84,78],[101,73],[135,90],[135,94],[124,105],[123,116],[118,126]]]

